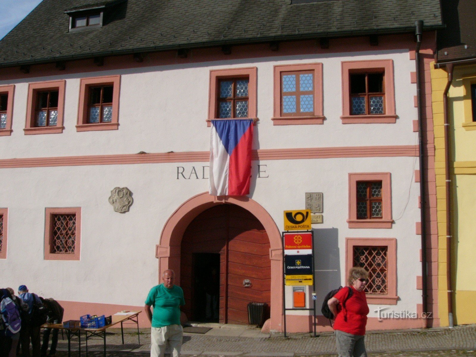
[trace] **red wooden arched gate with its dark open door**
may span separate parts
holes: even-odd
[[[239,206],[217,205],[193,219],[183,234],[180,252],[188,318],[248,324],[249,302],[266,303],[269,308],[269,248],[263,225]]]

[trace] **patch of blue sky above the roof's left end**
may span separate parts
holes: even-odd
[[[41,0],[0,0],[0,39],[10,32]]]

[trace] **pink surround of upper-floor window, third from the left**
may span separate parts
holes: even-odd
[[[89,87],[112,85],[112,118],[110,123],[88,123]],[[79,85],[78,124],[76,131],[117,130],[119,129],[119,91],[120,76],[82,78]]]

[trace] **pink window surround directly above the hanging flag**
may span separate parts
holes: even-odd
[[[254,119],[257,117],[257,78],[258,68],[229,68],[229,69],[212,69],[210,70],[210,87],[208,94],[208,119],[207,125],[210,126],[210,120],[217,119],[217,95],[218,95],[218,79],[223,78],[239,78],[248,77],[248,118]],[[240,118],[243,119],[243,118]]]

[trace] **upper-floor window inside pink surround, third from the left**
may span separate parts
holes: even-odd
[[[112,121],[113,86],[89,87],[88,123]]]

